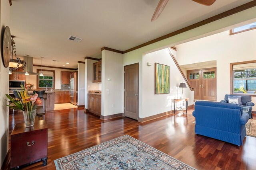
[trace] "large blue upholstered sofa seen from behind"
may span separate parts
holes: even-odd
[[[243,145],[249,115],[240,105],[197,101],[193,116],[196,118],[196,134]]]

